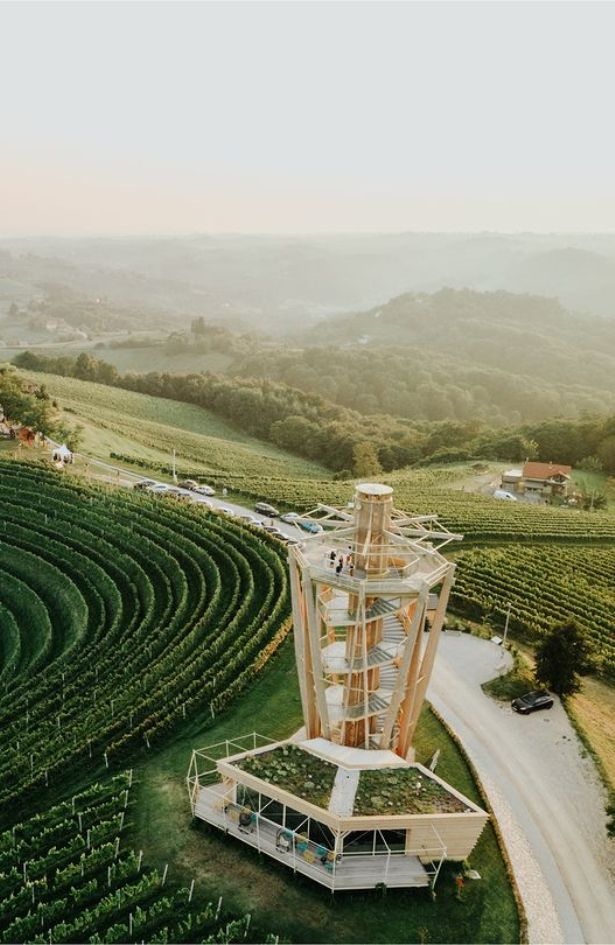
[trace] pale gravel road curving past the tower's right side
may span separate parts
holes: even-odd
[[[531,716],[486,696],[499,647],[444,635],[428,698],[457,732],[503,832],[530,942],[615,943],[615,843],[605,796],[561,705]]]

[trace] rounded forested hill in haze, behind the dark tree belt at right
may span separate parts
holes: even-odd
[[[520,423],[615,407],[615,321],[443,289],[338,316],[235,367],[364,413]]]

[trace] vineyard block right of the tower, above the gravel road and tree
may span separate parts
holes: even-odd
[[[615,677],[615,548],[557,545],[475,549],[457,556],[454,606],[530,637],[566,620],[583,627],[599,669]]]

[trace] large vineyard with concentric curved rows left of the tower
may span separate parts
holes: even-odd
[[[288,626],[282,553],[203,511],[0,462],[0,817],[147,750]]]

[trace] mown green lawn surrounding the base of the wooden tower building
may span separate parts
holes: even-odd
[[[210,720],[209,720],[210,721]],[[515,942],[516,906],[493,829],[488,826],[471,862],[482,880],[454,897],[453,870],[441,874],[433,902],[425,890],[337,894],[294,877],[283,866],[191,825],[184,778],[195,747],[254,730],[287,737],[301,724],[292,644],[287,642],[249,692],[214,725],[195,721],[166,751],[138,769],[134,843],[150,862],[173,864],[182,881],[196,879],[199,895],[222,895],[228,908],[249,911],[261,928],[293,942]],[[480,803],[472,776],[446,731],[425,710],[416,739],[419,761],[441,750],[438,774]]]

